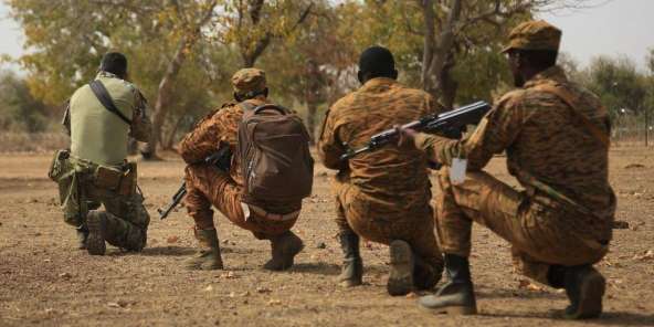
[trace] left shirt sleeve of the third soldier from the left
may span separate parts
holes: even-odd
[[[318,157],[325,167],[341,170],[347,169],[347,162],[340,160],[340,156],[345,155],[346,149],[338,137],[338,126],[335,116],[331,109],[325,114],[317,148]]]

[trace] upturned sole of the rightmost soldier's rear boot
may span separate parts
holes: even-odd
[[[597,271],[586,277],[580,287],[579,305],[577,312],[567,314],[568,319],[590,319],[602,314],[602,297],[606,289],[606,281]]]

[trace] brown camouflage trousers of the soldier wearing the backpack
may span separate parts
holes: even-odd
[[[243,188],[229,173],[210,165],[187,166],[184,180],[184,204],[200,230],[214,229],[211,205],[259,240],[291,230],[299,215],[302,203],[263,203],[256,207],[243,203]]]

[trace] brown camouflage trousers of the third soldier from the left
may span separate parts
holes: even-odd
[[[425,202],[411,211],[381,204],[357,186],[336,179],[336,224],[340,231],[351,230],[358,235],[382,244],[405,241],[414,254],[434,267],[443,268],[443,256],[434,235],[432,208]]]

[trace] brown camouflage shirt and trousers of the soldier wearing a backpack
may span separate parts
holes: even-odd
[[[250,70],[244,71],[247,73]],[[234,76],[234,87],[238,91],[262,87],[245,77],[247,76]],[[254,106],[265,104],[261,98],[246,102]],[[220,141],[226,141],[232,154],[236,154],[238,129],[242,116],[241,105],[224,104],[200,120],[181,141],[181,156],[189,164],[184,177],[188,191],[186,207],[196,221],[197,229],[214,228],[211,210],[213,204],[238,226],[252,231],[257,239],[267,239],[288,231],[295,224],[302,203],[242,203],[243,177],[239,156],[232,156],[229,172],[203,162],[204,158],[218,150]],[[279,218],[279,214],[284,217]]]

